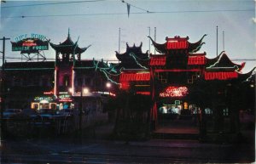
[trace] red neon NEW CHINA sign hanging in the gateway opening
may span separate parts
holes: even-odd
[[[188,88],[186,87],[168,87],[166,91],[160,93],[160,97],[183,97],[188,93]]]

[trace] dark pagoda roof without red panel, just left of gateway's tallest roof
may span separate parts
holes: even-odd
[[[126,42],[126,52],[123,54],[119,54],[117,51],[115,51],[115,55],[121,63],[119,64],[119,67],[124,68],[143,68],[144,66],[148,66],[148,51],[146,53],[143,53],[142,51],[143,42],[141,42],[140,46],[135,46],[133,44],[132,47],[128,45]]]

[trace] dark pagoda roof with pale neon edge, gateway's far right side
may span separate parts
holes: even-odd
[[[224,51],[218,54],[216,58],[207,59],[206,62],[207,71],[241,71],[244,66],[244,62],[241,65],[233,63]]]

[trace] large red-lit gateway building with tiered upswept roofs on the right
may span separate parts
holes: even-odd
[[[207,53],[200,52],[206,36],[194,43],[189,37],[166,37],[162,44],[150,37],[160,54],[149,54],[148,59],[140,58],[141,51],[131,52],[132,48],[117,54],[120,63],[130,59],[137,65],[122,70],[120,88],[150,96],[151,129],[157,129],[163,119],[195,116],[202,135],[238,133],[239,111],[254,110],[255,104],[248,106],[247,99],[253,100],[255,95],[246,96],[248,88],[254,90],[254,68],[242,74],[245,63],[233,63],[226,52],[207,58]]]

